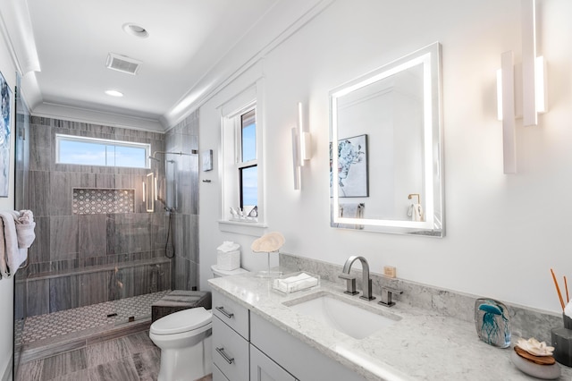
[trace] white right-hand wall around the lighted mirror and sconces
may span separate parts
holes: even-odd
[[[282,251],[340,265],[359,254],[374,272],[391,265],[404,279],[559,311],[550,268],[572,276],[572,2],[537,3],[550,110],[538,127],[517,121],[517,174],[502,170],[495,71],[507,50],[520,62],[519,0],[337,0],[273,49],[262,70],[266,207],[268,230],[286,237]],[[442,43],[446,237],[330,228],[328,91],[434,41]],[[246,86],[240,80],[229,88]],[[199,142],[215,152],[221,93],[216,97],[201,106]],[[295,191],[290,128],[299,101],[309,111],[314,157]],[[214,172],[202,173],[214,182],[200,188],[203,288],[216,246],[232,240],[248,248],[255,239],[219,231],[216,156]],[[243,250],[243,261],[253,256]]]

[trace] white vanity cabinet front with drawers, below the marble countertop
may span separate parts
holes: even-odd
[[[213,312],[214,381],[364,380],[219,292]]]

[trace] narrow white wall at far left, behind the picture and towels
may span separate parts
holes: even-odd
[[[14,89],[16,86],[16,68],[10,59],[10,53],[4,45],[4,39],[0,38],[0,72],[4,75],[4,79],[8,82],[8,86],[12,89],[12,98],[10,107],[11,116],[11,135],[10,135],[10,187],[9,196],[0,198],[0,210],[13,210],[14,208]],[[12,368],[13,356],[13,278],[0,280],[0,378],[5,372]]]

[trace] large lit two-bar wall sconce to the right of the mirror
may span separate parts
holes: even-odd
[[[538,124],[538,113],[548,110],[546,61],[536,56],[536,1],[522,0],[522,118],[524,126]],[[497,114],[502,121],[504,173],[517,173],[515,67],[512,51],[501,55],[497,71]],[[517,75],[518,77],[518,75]],[[519,78],[520,79],[520,78]],[[517,94],[520,96],[520,94]]]

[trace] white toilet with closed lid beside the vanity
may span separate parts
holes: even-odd
[[[221,270],[214,277],[248,273],[244,268]],[[183,309],[156,320],[149,338],[161,349],[157,381],[196,380],[212,373],[213,313],[204,307]]]

